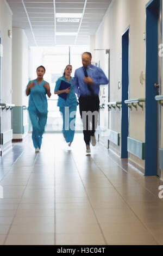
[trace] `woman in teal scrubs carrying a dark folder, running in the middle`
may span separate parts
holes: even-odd
[[[64,71],[64,75],[58,78],[55,89],[54,89],[54,94],[58,94],[58,95],[62,93],[67,94],[67,99],[63,99],[60,96],[58,97],[57,106],[59,107],[59,111],[61,112],[61,115],[63,118],[62,133],[69,147],[71,146],[71,143],[74,137],[75,120],[76,120],[76,112],[77,112],[77,105],[78,105],[77,97],[74,94],[74,90],[73,90],[73,78],[71,77],[71,73],[72,73],[72,66],[67,65]],[[60,90],[61,81],[69,83],[70,87],[68,87],[67,89]]]

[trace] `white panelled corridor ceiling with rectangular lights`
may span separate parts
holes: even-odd
[[[87,45],[111,0],[7,0],[12,27],[24,29],[29,46]],[[79,22],[58,22],[58,14],[80,14]],[[76,35],[57,35],[58,33]]]

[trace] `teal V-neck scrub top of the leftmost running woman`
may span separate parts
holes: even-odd
[[[34,82],[35,86],[30,89],[28,110],[29,111],[37,110],[41,114],[44,114],[44,113],[46,114],[48,112],[48,110],[47,110],[48,104],[47,104],[47,97],[46,97],[47,92],[46,92],[45,87],[43,87],[43,84],[45,84],[47,82],[42,80],[42,82],[40,84],[38,84],[36,79],[29,81],[29,83],[30,82]],[[29,85],[29,83],[28,83],[28,85]]]

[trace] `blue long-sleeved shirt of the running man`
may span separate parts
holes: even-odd
[[[93,80],[93,84],[91,84],[91,90],[94,95],[99,94],[99,86],[101,84],[108,84],[108,78],[105,76],[102,69],[97,66],[89,65],[86,69],[87,76],[91,77]],[[82,66],[79,69],[76,69],[74,74],[74,92],[77,93],[78,96],[91,96],[92,93],[87,88],[87,84],[84,82],[84,67]]]

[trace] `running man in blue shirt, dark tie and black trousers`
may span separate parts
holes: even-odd
[[[82,54],[83,66],[74,74],[74,92],[79,97],[86,153],[91,152],[90,141],[93,146],[96,145],[95,130],[98,123],[99,86],[108,84],[108,78],[102,69],[91,65],[91,59],[91,53],[84,52]]]

